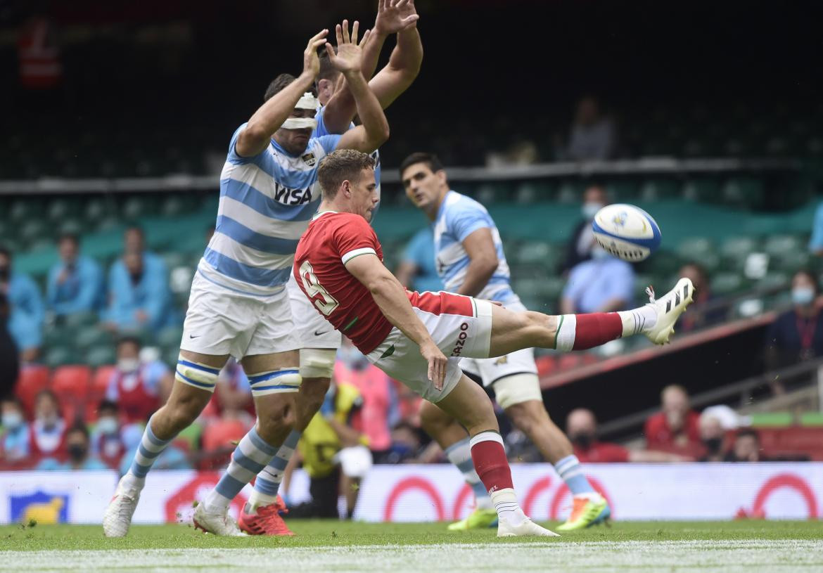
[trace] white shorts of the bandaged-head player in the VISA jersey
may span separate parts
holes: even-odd
[[[238,293],[194,275],[180,349],[238,360],[300,348],[286,289],[267,297]]]

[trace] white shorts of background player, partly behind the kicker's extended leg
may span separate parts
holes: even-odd
[[[504,306],[513,312],[527,310],[520,301]],[[528,400],[542,400],[537,364],[534,363],[534,349],[518,350],[499,358],[467,358],[461,361],[460,367],[464,372],[479,377],[484,387],[494,388],[497,401],[503,408]],[[518,376],[516,388],[509,387],[503,380],[518,374],[527,376]]]

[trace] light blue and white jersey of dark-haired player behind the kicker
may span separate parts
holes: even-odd
[[[435,263],[437,274],[443,280],[446,290],[457,292],[466,280],[469,256],[463,248],[463,241],[477,231],[489,229],[497,251],[497,269],[488,284],[477,294],[477,298],[511,303],[519,300],[509,285],[509,264],[503,253],[500,233],[491,219],[489,211],[480,203],[449,191],[437,211],[435,219]]]

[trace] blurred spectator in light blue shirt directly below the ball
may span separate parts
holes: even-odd
[[[615,312],[628,308],[635,290],[635,271],[626,261],[592,248],[592,260],[579,263],[569,273],[560,298],[560,313]]]

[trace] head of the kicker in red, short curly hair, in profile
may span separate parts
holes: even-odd
[[[380,198],[374,180],[374,159],[356,150],[337,150],[326,155],[317,172],[323,201],[335,210],[360,215],[367,221]]]

